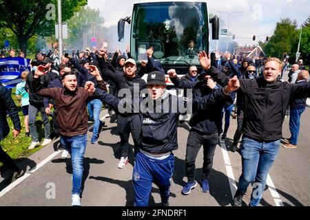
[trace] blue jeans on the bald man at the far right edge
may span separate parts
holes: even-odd
[[[289,131],[291,131],[291,139],[289,142],[293,145],[297,145],[298,133],[300,127],[300,116],[304,112],[306,107],[300,109],[292,109],[289,116]]]

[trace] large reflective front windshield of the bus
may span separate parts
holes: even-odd
[[[207,50],[207,5],[202,2],[138,3],[132,14],[131,52],[147,60],[146,50],[161,63],[199,65],[198,52]]]

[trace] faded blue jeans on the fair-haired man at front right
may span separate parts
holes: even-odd
[[[259,205],[269,169],[276,160],[279,148],[280,140],[257,142],[249,137],[242,138],[240,146],[242,174],[239,178],[238,190],[246,192],[251,181],[255,180],[250,206]]]

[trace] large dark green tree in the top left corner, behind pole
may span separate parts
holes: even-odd
[[[49,4],[54,4],[52,10],[47,7]],[[75,11],[86,4],[87,0],[62,1],[63,21],[70,19]],[[27,52],[28,40],[32,36],[54,34],[54,23],[57,15],[56,0],[0,0],[0,5],[2,11],[0,28],[10,29],[16,36],[20,49],[25,53]],[[49,13],[54,14],[54,17],[48,17],[51,15]]]

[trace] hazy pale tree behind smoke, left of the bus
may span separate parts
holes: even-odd
[[[81,10],[74,12],[74,16],[66,22],[68,23],[69,39],[65,43],[68,46],[83,45],[83,32],[87,34],[87,40],[89,40],[90,36],[94,36],[94,31],[96,31],[96,36],[99,36],[97,41],[103,41],[100,37],[103,32],[104,19],[100,16],[99,10],[81,7]]]

